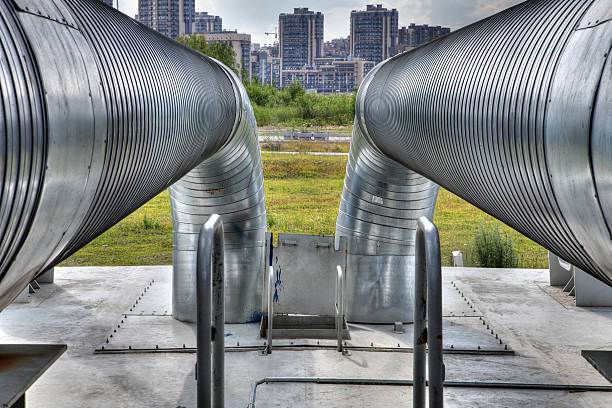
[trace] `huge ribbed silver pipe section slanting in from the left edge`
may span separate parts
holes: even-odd
[[[97,0],[0,0],[0,38],[2,309],[253,119],[221,64]]]

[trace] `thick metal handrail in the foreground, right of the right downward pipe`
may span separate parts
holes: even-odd
[[[426,323],[426,319],[427,323]],[[442,408],[444,362],[442,360],[442,267],[438,229],[419,218],[415,248],[414,358],[412,399],[425,407],[425,346],[428,346],[429,407]]]

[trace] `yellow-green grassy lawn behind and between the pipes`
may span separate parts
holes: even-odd
[[[293,146],[295,147],[295,146]],[[325,148],[325,147],[323,147]],[[333,149],[339,149],[333,146]],[[345,150],[346,146],[341,147]],[[346,157],[263,154],[268,228],[272,232],[332,235],[342,194]],[[441,189],[434,222],[442,262],[451,251],[474,265],[471,246],[481,223],[499,224],[514,239],[519,266],[546,268],[546,250],[476,207]],[[172,263],[172,220],[165,191],[62,263],[69,265],[160,265]]]

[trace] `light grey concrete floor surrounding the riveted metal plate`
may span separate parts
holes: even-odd
[[[27,393],[28,406],[195,406],[195,354],[94,353],[102,344],[113,344],[106,338],[142,289],[153,279],[168,281],[170,274],[169,266],[56,268],[55,283],[41,285],[31,303],[2,311],[1,343],[68,345]],[[515,352],[446,354],[448,380],[609,385],[580,350],[612,350],[612,308],[577,308],[547,286],[547,271],[444,268],[443,275],[445,287],[451,290],[453,281]],[[153,331],[142,331],[143,338],[155,341]],[[273,376],[410,379],[412,354],[228,352],[226,405],[246,407],[251,383]],[[264,384],[257,390],[257,407],[409,407],[411,392],[410,387]],[[612,393],[447,388],[445,405],[603,408],[612,407]]]

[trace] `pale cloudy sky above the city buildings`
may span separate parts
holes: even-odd
[[[115,3],[117,0],[114,0]],[[118,0],[119,9],[131,17],[138,14],[138,0]],[[349,34],[351,10],[365,9],[379,3],[399,12],[399,26],[410,23],[442,25],[453,30],[520,3],[522,0],[196,0],[196,11],[223,18],[223,28],[251,34],[251,41],[271,44],[280,13],[291,13],[294,7],[308,7],[325,14],[325,41]]]

